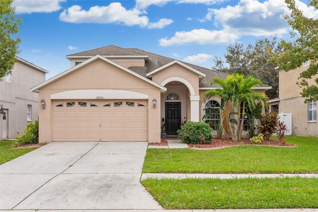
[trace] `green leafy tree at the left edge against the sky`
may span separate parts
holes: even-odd
[[[19,32],[22,20],[15,15],[16,9],[11,4],[12,0],[0,0],[0,81],[11,74],[16,62],[15,56],[20,53],[21,38],[12,37]]]

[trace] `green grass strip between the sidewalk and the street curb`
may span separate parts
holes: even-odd
[[[318,178],[146,179],[165,209],[318,208]]]

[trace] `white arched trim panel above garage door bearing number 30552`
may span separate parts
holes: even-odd
[[[68,90],[51,95],[51,99],[148,99],[148,94],[116,89]]]

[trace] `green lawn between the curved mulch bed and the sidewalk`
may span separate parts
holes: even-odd
[[[318,138],[287,136],[287,142],[299,147],[147,149],[143,173],[317,173]]]

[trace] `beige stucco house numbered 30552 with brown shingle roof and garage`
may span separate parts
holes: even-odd
[[[226,74],[137,48],[106,46],[66,56],[71,68],[31,88],[45,101],[39,110],[39,142],[160,142],[161,117],[167,135],[182,121],[199,122],[212,77]],[[271,87],[256,86],[259,92]],[[211,117],[215,120],[216,117]],[[213,126],[212,126],[213,127]],[[247,126],[246,126],[247,127]],[[225,135],[226,136],[226,135]]]

